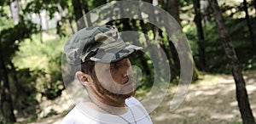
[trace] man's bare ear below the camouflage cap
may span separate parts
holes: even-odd
[[[93,82],[92,78],[88,74],[84,74],[82,71],[77,71],[75,78],[81,82],[84,86],[90,86],[91,83]]]

